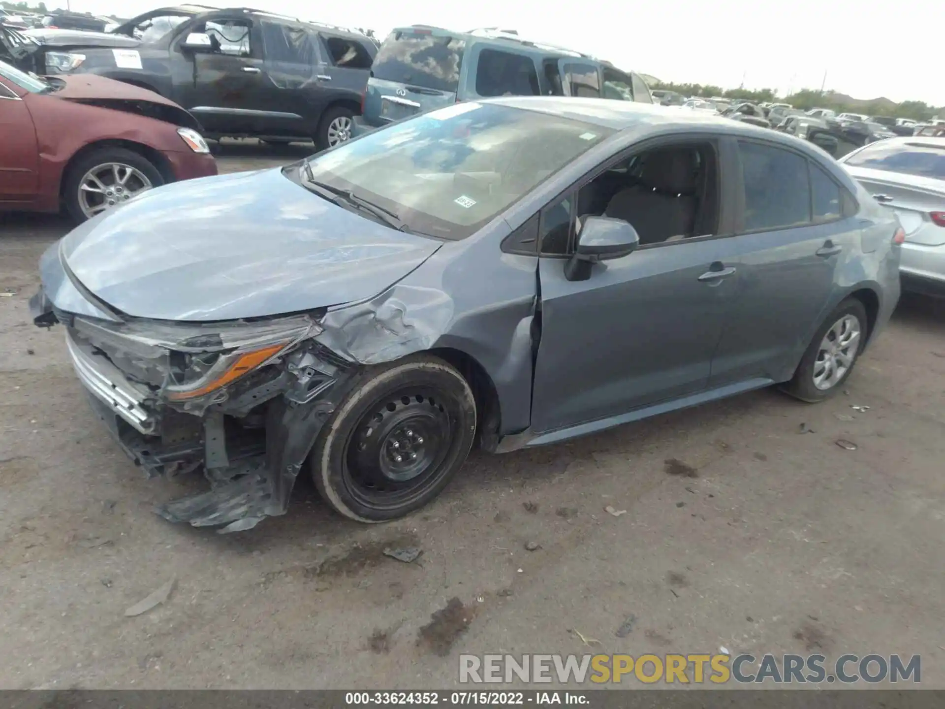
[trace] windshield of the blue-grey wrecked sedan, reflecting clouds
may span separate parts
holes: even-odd
[[[546,113],[459,103],[369,133],[308,165],[312,182],[375,203],[411,232],[455,240],[612,132]]]

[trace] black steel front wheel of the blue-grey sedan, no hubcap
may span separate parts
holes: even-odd
[[[318,493],[359,522],[403,517],[436,497],[472,446],[476,406],[462,374],[435,356],[371,368],[318,436]]]

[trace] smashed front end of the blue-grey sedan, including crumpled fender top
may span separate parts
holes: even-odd
[[[41,327],[65,326],[68,353],[95,414],[147,476],[202,470],[210,483],[209,491],[155,511],[222,533],[284,514],[322,427],[367,368],[429,350],[454,313],[443,291],[395,285],[367,302],[286,318],[307,324],[295,327],[277,355],[224,387],[175,400],[180,364],[169,356],[175,346],[156,343],[179,342],[200,355],[204,345],[219,349],[218,333],[230,325],[123,320],[105,303],[78,304],[88,314],[61,311],[41,288],[30,310]],[[274,322],[234,326],[266,330]]]

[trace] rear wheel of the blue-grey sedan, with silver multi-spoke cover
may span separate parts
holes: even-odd
[[[848,298],[837,305],[817,329],[784,391],[811,403],[833,396],[853,371],[866,342],[867,329],[863,303]]]

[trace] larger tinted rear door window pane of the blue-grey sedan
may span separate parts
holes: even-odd
[[[780,229],[811,220],[807,161],[780,147],[739,143],[745,176],[745,230]]]

